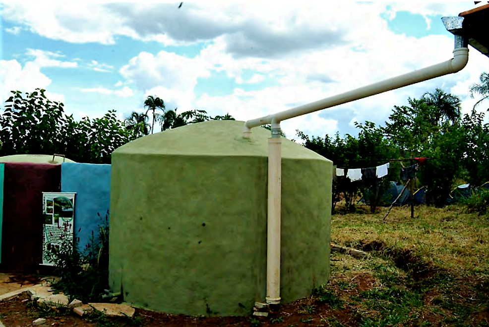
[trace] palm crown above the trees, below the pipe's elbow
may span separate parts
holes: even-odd
[[[458,96],[445,93],[443,90],[436,88],[434,93],[427,92],[423,94],[422,99],[426,104],[432,105],[438,109],[434,114],[436,123],[439,122],[440,119],[452,123],[460,121],[462,105]]]

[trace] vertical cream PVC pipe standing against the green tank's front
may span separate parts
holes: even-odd
[[[268,217],[266,303],[280,303],[280,209],[282,203],[282,140],[280,123],[272,121],[268,139]]]

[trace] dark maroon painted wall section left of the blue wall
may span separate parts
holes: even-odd
[[[60,184],[61,165],[5,163],[0,270],[39,270],[43,192],[59,192]]]

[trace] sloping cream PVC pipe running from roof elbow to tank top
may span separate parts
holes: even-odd
[[[245,137],[249,136],[250,129],[253,127],[270,124],[275,118],[277,123],[283,120],[308,114],[317,110],[322,110],[334,107],[339,104],[362,99],[374,94],[379,94],[395,89],[399,89],[415,83],[427,81],[436,77],[447,74],[456,73],[467,65],[469,60],[469,49],[466,47],[456,48],[453,50],[453,58],[442,63],[429,66],[414,72],[400,75],[388,80],[368,85],[353,91],[341,93],[322,100],[301,105],[292,109],[278,112],[273,115],[264,116],[261,118],[251,119],[245,122]]]

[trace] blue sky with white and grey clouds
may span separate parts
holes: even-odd
[[[479,3],[483,5],[484,3]],[[0,103],[44,88],[76,119],[143,111],[147,95],[178,112],[257,118],[350,91],[452,57],[442,16],[464,2],[4,1]],[[460,96],[489,71],[470,48],[457,74],[282,122],[289,138],[357,134],[394,105],[439,87]],[[481,105],[488,108],[489,104]],[[155,128],[155,130],[157,130]]]

